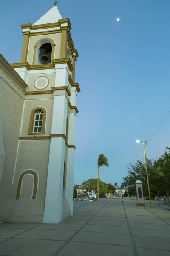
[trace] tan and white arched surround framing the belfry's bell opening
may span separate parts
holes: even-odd
[[[32,61],[33,65],[39,64],[38,63],[38,53],[39,53],[40,47],[43,44],[51,44],[51,47],[52,47],[51,60],[54,59],[54,52],[55,52],[55,46],[56,46],[54,40],[52,38],[48,38],[48,37],[41,38],[40,40],[37,41],[37,43],[34,46],[34,54],[33,54],[33,61]]]

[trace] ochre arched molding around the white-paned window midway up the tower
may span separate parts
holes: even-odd
[[[33,128],[34,128],[34,116],[35,116],[35,113],[38,110],[42,110],[43,111],[43,118],[42,118],[42,130],[41,130],[41,132],[37,133],[37,132],[33,132]],[[31,110],[30,121],[29,121],[29,128],[28,128],[28,134],[29,135],[31,135],[31,134],[35,134],[35,135],[37,135],[37,134],[45,134],[46,116],[47,116],[47,111],[46,111],[45,108],[37,107],[37,108],[33,108]]]

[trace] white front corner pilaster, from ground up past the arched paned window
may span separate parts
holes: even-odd
[[[67,98],[54,96],[51,134],[65,134]],[[59,223],[62,219],[62,189],[65,160],[65,140],[51,137],[47,188],[43,223]]]

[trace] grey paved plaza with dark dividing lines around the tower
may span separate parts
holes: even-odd
[[[0,223],[0,256],[170,256],[166,205],[132,200],[74,201],[59,224]]]

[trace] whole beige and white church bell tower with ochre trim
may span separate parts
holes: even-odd
[[[28,87],[12,181],[13,219],[21,221],[19,212],[23,221],[58,223],[73,213],[78,52],[70,20],[57,6],[21,27],[21,61],[11,65]]]

